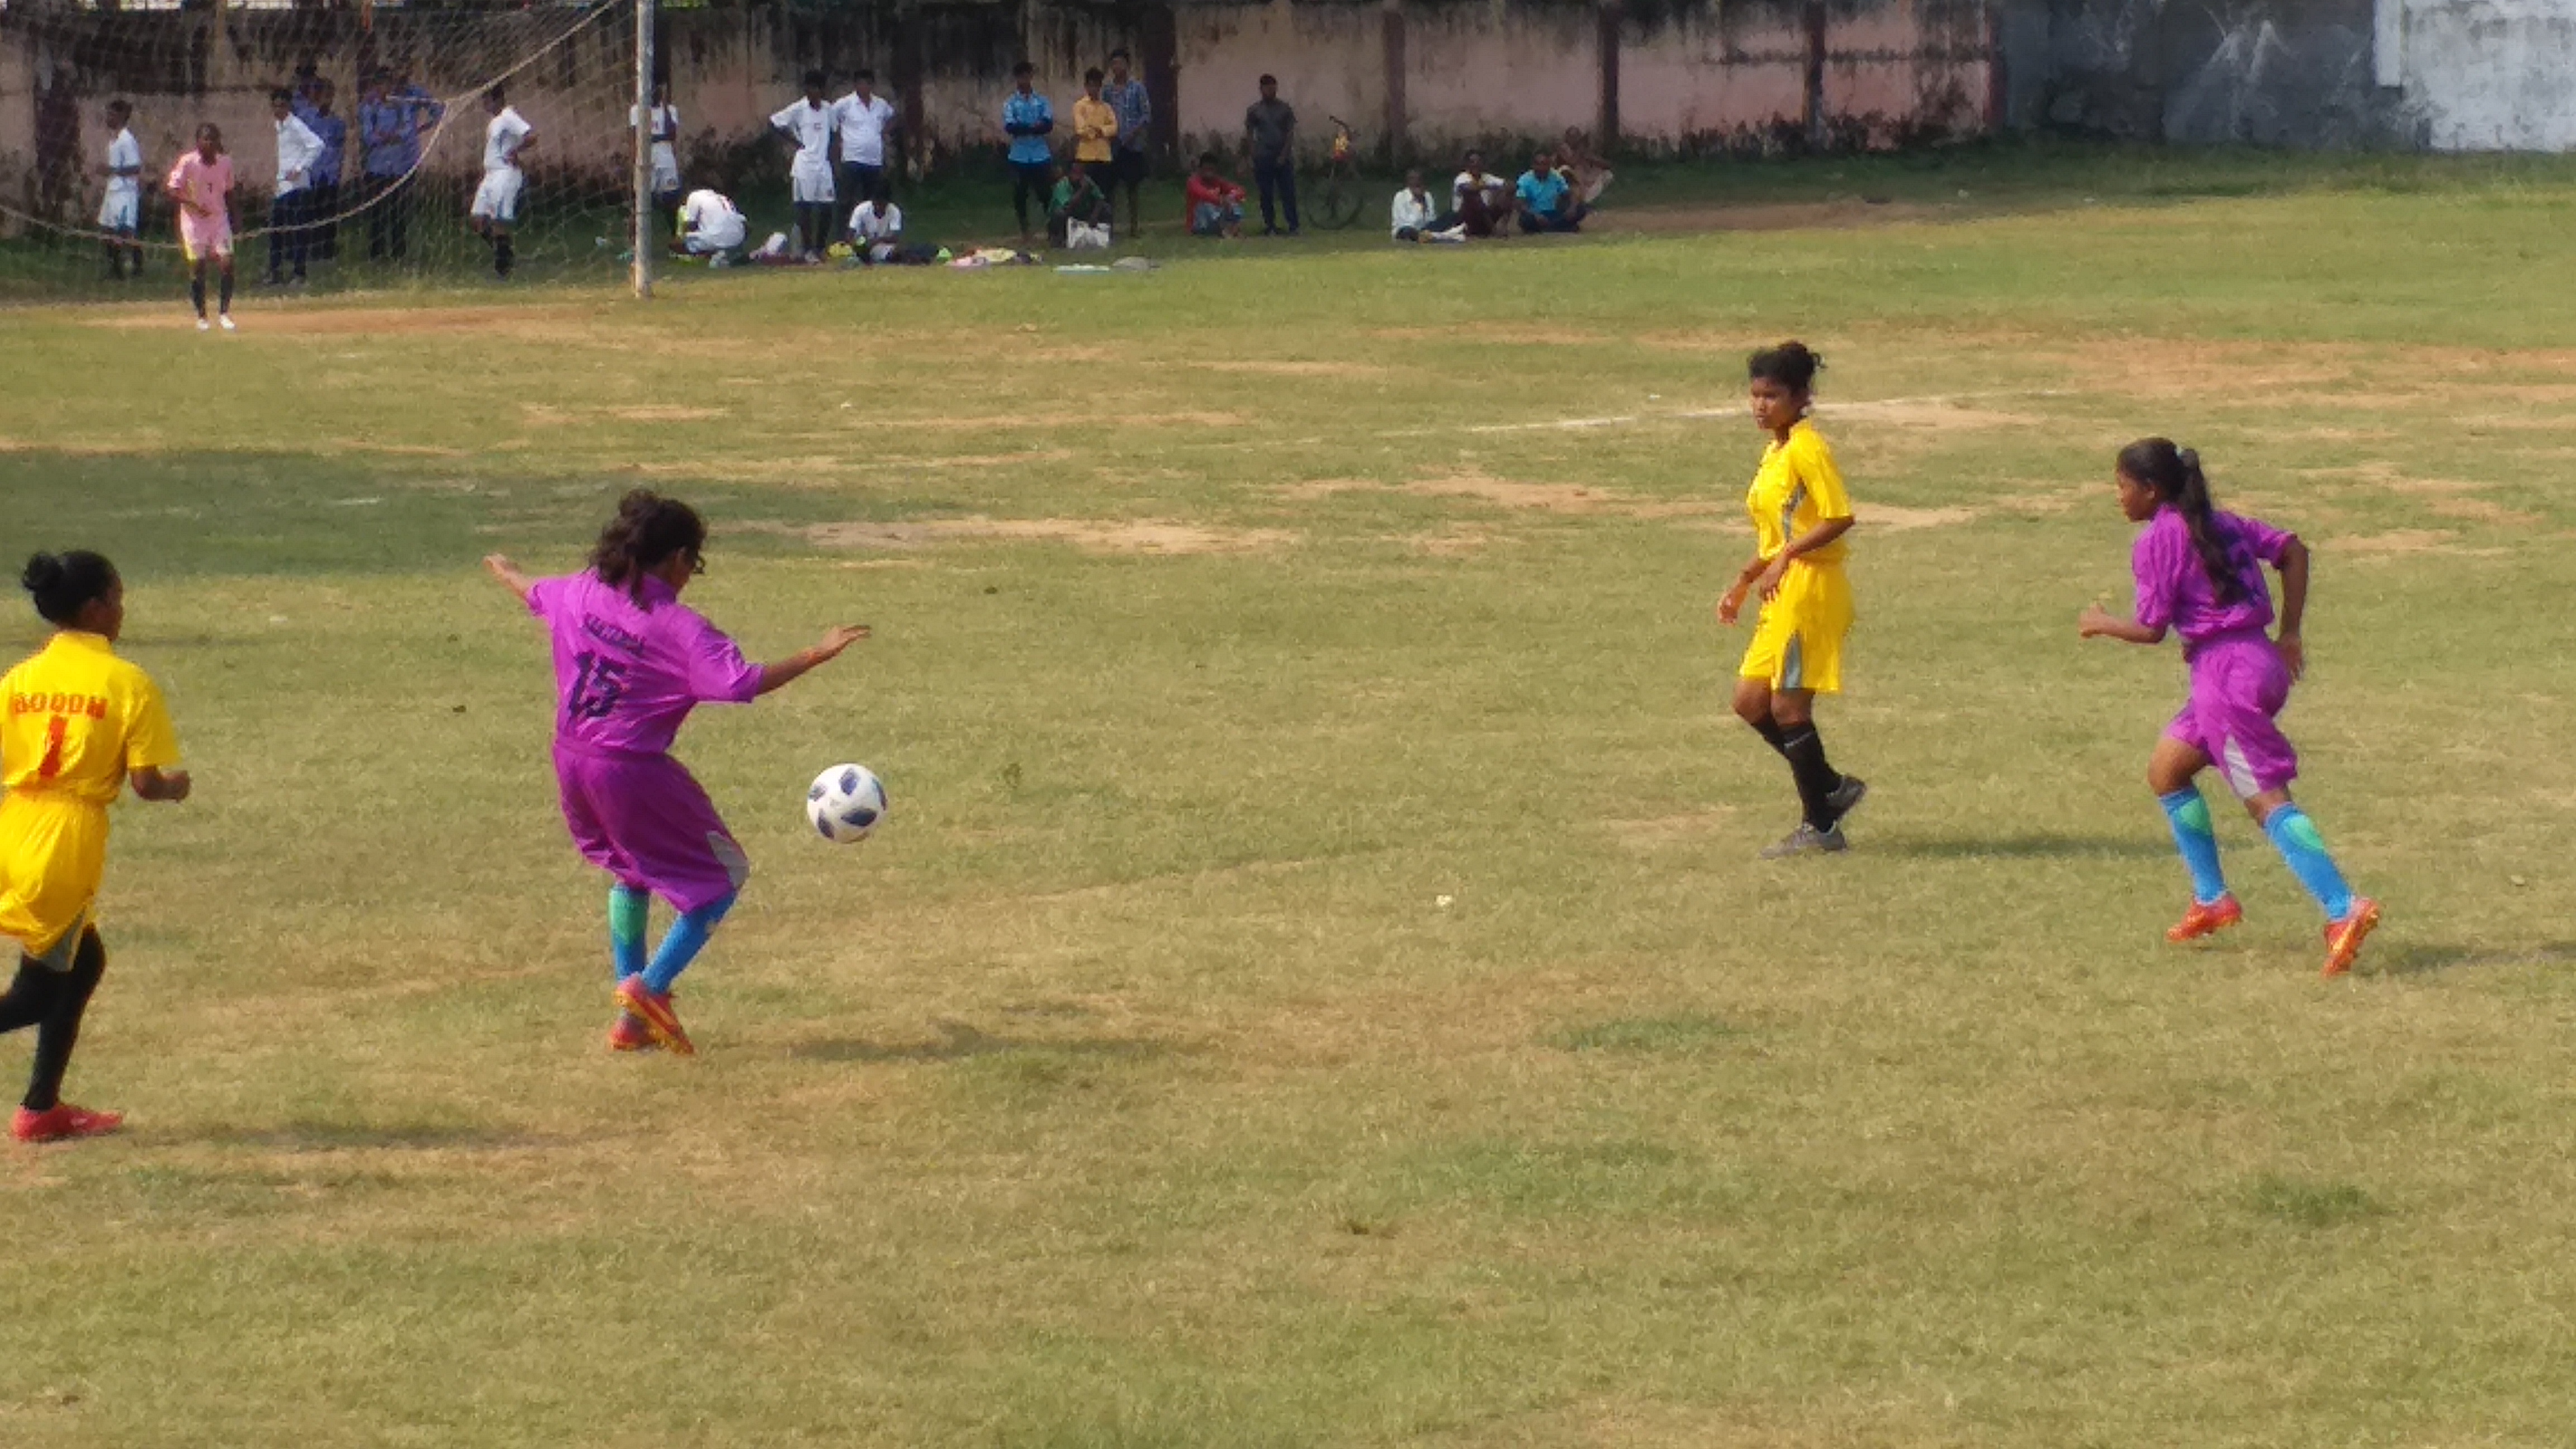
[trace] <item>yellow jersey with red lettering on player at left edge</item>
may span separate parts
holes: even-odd
[[[116,804],[126,773],[178,766],[160,688],[98,634],[64,629],[0,676],[0,786]]]

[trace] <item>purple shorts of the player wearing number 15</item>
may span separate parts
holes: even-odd
[[[554,781],[572,843],[618,884],[659,895],[675,910],[698,910],[752,877],[706,789],[670,755],[618,755],[556,740]]]

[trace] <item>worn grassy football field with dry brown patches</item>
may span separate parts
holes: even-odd
[[[2576,170],[2138,165],[0,312],[0,562],[124,567],[198,779],[118,807],[70,1096],[131,1129],[0,1152],[0,1444],[2563,1444]],[[1785,335],[1873,797],[1775,866],[1710,603]],[[2161,941],[2182,665],[2074,637],[2156,431],[2316,547],[2349,980],[2215,779],[2249,920]],[[752,655],[876,627],[680,740],[755,861],[693,1062],[603,1049],[477,567],[639,482]]]

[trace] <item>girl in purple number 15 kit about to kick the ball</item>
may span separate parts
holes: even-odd
[[[747,704],[868,637],[845,624],[822,645],[775,665],[742,650],[680,603],[706,572],[706,523],[677,500],[647,490],[618,500],[618,516],[590,549],[590,567],[538,578],[492,554],[492,578],[546,621],[554,637],[554,779],[564,825],[582,856],[608,871],[608,954],[616,962],[618,1052],[670,1047],[696,1055],[670,1006],[670,985],[706,949],[750,877],[742,846],[706,789],[670,758],[672,735],[698,704]],[[644,918],[659,895],[680,913],[644,957]]]

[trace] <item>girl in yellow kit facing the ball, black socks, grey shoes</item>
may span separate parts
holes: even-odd
[[[1744,495],[1754,516],[1754,557],[1718,601],[1718,621],[1734,624],[1747,596],[1762,598],[1754,642],[1736,670],[1736,714],[1788,761],[1806,815],[1785,841],[1762,851],[1765,861],[1842,851],[1842,817],[1870,792],[1860,776],[1837,773],[1824,761],[1816,735],[1816,694],[1842,691],[1842,637],[1852,629],[1852,585],[1842,578],[1852,500],[1834,469],[1834,449],[1806,420],[1819,366],[1806,343],[1752,356],[1754,423],[1772,441]]]

